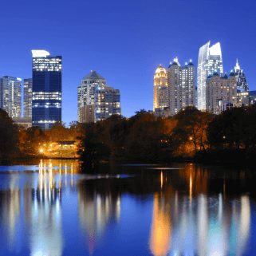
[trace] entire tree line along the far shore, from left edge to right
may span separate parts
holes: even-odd
[[[144,109],[130,118],[111,116],[92,124],[55,124],[49,131],[18,127],[0,109],[0,159],[38,156],[38,146],[80,140],[85,163],[100,160],[253,161],[256,156],[256,105],[231,108],[215,116],[185,108],[175,116],[156,118]]]

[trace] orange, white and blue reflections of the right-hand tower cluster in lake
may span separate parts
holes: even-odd
[[[161,187],[168,188],[154,195],[149,238],[152,254],[243,255],[250,235],[249,196],[237,200],[223,192],[209,196],[204,191],[208,178],[202,176],[203,170],[199,174],[193,170],[190,175],[187,168],[182,175],[186,172],[187,193],[170,192],[171,181],[160,176]],[[193,189],[198,184],[201,191]]]

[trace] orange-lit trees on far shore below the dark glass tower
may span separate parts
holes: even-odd
[[[0,108],[0,160],[39,156],[38,149],[43,144],[61,140],[77,140],[82,134],[82,125],[72,122],[69,127],[57,123],[48,131],[39,127],[18,126]]]

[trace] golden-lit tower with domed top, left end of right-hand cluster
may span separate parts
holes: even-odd
[[[154,99],[153,109],[169,107],[168,100],[168,85],[167,85],[167,72],[166,69],[160,65],[156,69],[154,76]]]

